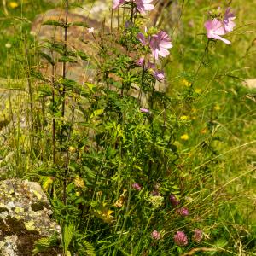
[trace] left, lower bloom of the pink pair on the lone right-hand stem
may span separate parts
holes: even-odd
[[[229,40],[220,37],[226,33],[221,21],[217,20],[216,18],[213,20],[207,20],[205,27],[207,29],[207,38],[213,38],[221,40],[225,44],[231,44]]]

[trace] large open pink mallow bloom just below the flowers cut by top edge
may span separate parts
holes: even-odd
[[[172,48],[171,39],[164,31],[160,31],[157,34],[154,34],[152,38],[150,38],[149,44],[152,54],[156,60],[158,60],[159,55],[162,57],[169,55],[170,52],[168,49]]]

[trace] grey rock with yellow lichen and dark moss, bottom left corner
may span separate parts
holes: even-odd
[[[35,241],[61,234],[51,213],[38,183],[20,179],[0,182],[0,255],[32,255]],[[50,250],[42,255],[58,254],[57,248]]]

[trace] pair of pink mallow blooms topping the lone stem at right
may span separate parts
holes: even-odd
[[[216,40],[221,40],[225,44],[231,44],[231,42],[221,36],[233,31],[236,26],[234,21],[236,16],[230,13],[230,8],[226,9],[224,13],[223,20],[218,20],[218,18],[214,18],[213,20],[207,20],[205,23],[205,28],[207,29],[207,38],[212,38]]]

